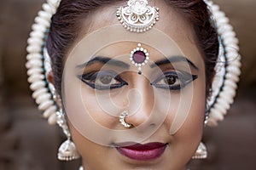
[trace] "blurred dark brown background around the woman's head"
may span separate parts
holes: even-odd
[[[256,169],[256,1],[214,0],[230,17],[240,39],[242,75],[236,102],[225,121],[207,127],[205,161],[191,170]],[[37,110],[26,82],[26,39],[44,0],[0,1],[0,170],[78,169],[56,153],[59,128],[50,127]]]

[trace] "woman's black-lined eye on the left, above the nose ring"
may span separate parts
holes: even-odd
[[[121,88],[124,85],[128,85],[127,82],[122,80],[113,71],[90,72],[78,77],[82,82],[89,85],[90,88],[95,88],[97,90]]]

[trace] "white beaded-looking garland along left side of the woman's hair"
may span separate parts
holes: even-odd
[[[43,116],[48,119],[49,124],[57,122],[56,111],[58,106],[55,105],[50,83],[47,81],[47,74],[51,71],[49,60],[44,59],[44,42],[45,36],[49,29],[51,17],[56,12],[60,0],[48,0],[43,4],[43,10],[38,12],[35,18],[35,24],[32,25],[32,32],[28,38],[27,62],[28,82],[33,91],[32,98],[36,100],[38,109],[44,111]]]

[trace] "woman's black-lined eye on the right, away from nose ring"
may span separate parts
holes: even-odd
[[[179,90],[186,87],[189,82],[193,82],[196,78],[196,75],[191,75],[188,72],[170,71],[157,78],[151,85],[155,88]]]

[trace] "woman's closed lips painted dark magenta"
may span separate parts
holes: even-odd
[[[166,145],[159,142],[118,146],[116,149],[123,156],[137,161],[150,161],[159,158],[166,150]]]

